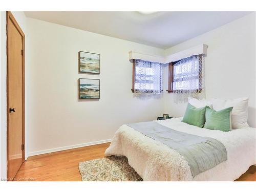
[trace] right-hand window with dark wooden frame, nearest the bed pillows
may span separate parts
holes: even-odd
[[[202,55],[169,63],[168,93],[201,93]]]

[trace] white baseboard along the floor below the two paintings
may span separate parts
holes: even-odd
[[[70,150],[71,148],[78,148],[78,147],[83,147],[83,146],[90,146],[90,145],[96,145],[96,144],[101,144],[101,143],[108,143],[108,142],[111,142],[111,141],[112,141],[112,139],[106,139],[106,140],[93,141],[93,142],[81,143],[81,144],[76,144],[76,145],[69,145],[69,146],[63,146],[63,147],[57,147],[57,148],[49,148],[48,150],[41,150],[41,151],[31,152],[31,153],[28,154],[28,157],[34,156],[34,155],[52,153],[52,152],[59,152],[59,151],[63,151],[63,150]],[[28,157],[26,157],[26,160],[27,160]]]

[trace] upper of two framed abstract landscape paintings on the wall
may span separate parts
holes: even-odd
[[[80,51],[79,72],[100,74],[100,54]]]

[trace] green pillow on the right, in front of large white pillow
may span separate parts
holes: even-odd
[[[220,111],[206,108],[204,128],[209,130],[220,130],[223,132],[231,131],[230,113],[233,107]]]

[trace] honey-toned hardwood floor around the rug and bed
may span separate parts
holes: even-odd
[[[20,167],[16,180],[81,181],[78,164],[104,157],[110,143],[74,148],[61,152],[32,156]],[[256,181],[256,166],[250,166],[236,181]]]

